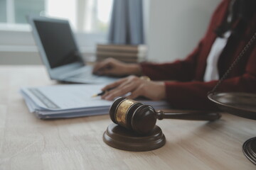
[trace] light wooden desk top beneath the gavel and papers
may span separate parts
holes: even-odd
[[[108,115],[39,120],[28,112],[21,86],[55,84],[43,67],[0,66],[0,169],[255,169],[242,143],[256,122],[223,114],[213,123],[161,120],[166,145],[127,152],[105,145]]]

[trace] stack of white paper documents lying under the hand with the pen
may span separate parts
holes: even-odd
[[[108,114],[113,101],[92,97],[104,85],[68,84],[40,87],[23,87],[21,94],[28,110],[38,118],[75,118]],[[166,101],[140,101],[155,109],[168,108]]]

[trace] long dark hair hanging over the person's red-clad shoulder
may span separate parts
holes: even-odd
[[[215,30],[215,33],[218,37],[223,37],[227,30],[232,30],[235,35],[239,35],[246,28],[255,13],[256,0],[231,0],[228,14],[223,23]],[[228,17],[230,17],[230,21],[228,21]],[[234,23],[238,19],[240,22],[238,26],[234,27]]]

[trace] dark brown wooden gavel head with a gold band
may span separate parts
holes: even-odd
[[[156,111],[152,106],[144,105],[127,98],[117,98],[110,107],[110,118],[114,123],[146,135],[156,125]]]

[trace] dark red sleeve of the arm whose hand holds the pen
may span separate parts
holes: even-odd
[[[218,91],[256,93],[256,49],[247,60],[245,73],[225,79],[218,87]],[[213,109],[213,102],[207,98],[217,81],[191,81],[169,82],[166,81],[166,98],[174,108]]]

